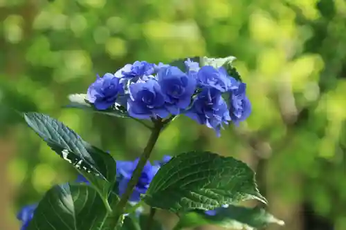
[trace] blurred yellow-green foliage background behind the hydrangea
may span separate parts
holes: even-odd
[[[1,230],[19,229],[19,207],[76,176],[8,107],[47,113],[132,160],[145,128],[63,109],[67,95],[136,60],[197,55],[237,57],[253,113],[220,138],[181,117],[152,160],[233,155],[257,171],[268,209],[286,222],[268,229],[346,229],[344,0],[0,0],[0,19]]]

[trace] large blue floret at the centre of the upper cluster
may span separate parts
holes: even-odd
[[[176,66],[170,66],[162,68],[157,78],[165,96],[165,107],[170,113],[178,115],[180,109],[188,108],[197,84],[194,77],[183,73]]]

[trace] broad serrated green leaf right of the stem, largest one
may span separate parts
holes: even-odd
[[[211,210],[250,199],[266,203],[255,173],[233,157],[207,151],[173,157],[158,170],[144,196],[149,206],[175,212]]]

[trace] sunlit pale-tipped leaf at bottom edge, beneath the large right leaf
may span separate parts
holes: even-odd
[[[195,228],[207,224],[230,229],[255,230],[262,229],[268,224],[284,225],[284,222],[260,207],[248,208],[230,205],[226,209],[218,209],[217,215],[206,215],[201,211],[186,213],[181,216],[174,230]]]

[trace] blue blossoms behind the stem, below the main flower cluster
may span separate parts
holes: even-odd
[[[119,180],[119,195],[125,193],[127,184],[129,183],[129,180],[131,179],[132,173],[134,173],[137,164],[138,159],[135,161],[119,160],[116,162],[117,176]],[[144,194],[147,191],[150,182],[152,182],[154,175],[158,171],[158,168],[158,166],[152,166],[150,162],[147,162],[147,164],[145,164],[144,169],[138,180],[138,184],[136,185],[134,193],[132,193],[129,201],[138,202],[140,200],[140,194]]]

